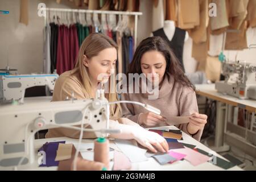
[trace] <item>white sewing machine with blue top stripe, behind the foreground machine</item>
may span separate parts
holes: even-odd
[[[53,92],[59,76],[49,75],[0,75],[0,101],[16,100],[23,102],[27,88],[47,85]]]

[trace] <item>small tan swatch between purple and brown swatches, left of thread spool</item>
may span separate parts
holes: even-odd
[[[60,143],[57,150],[55,161],[70,159],[72,154],[72,147],[73,147],[72,143],[67,143],[67,144]]]

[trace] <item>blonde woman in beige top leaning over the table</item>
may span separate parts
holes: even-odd
[[[63,101],[72,97],[72,92],[78,100],[95,98],[98,84],[98,76],[101,75],[109,79],[111,70],[115,68],[117,61],[117,44],[104,34],[90,34],[82,43],[76,66],[71,71],[60,75],[55,84],[53,101]],[[115,83],[112,83],[115,84]],[[110,84],[111,85],[111,84]],[[105,94],[110,101],[117,101],[117,93]],[[167,152],[168,144],[160,135],[144,130],[137,123],[126,118],[120,118],[121,107],[119,105],[110,106],[110,128],[121,129],[120,134],[110,134],[112,138],[135,139],[142,146],[147,147],[152,152]],[[70,137],[79,138],[80,131],[57,128],[50,129],[46,138]],[[96,138],[94,133],[84,133],[84,138]],[[153,147],[154,146],[154,147]]]

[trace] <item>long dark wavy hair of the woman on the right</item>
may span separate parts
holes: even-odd
[[[141,58],[144,53],[148,51],[159,51],[163,54],[166,59],[166,73],[170,73],[174,77],[175,82],[180,82],[184,86],[188,86],[195,91],[195,86],[188,80],[185,76],[183,69],[177,57],[175,56],[172,49],[168,46],[167,42],[160,38],[159,36],[152,36],[142,40],[142,42],[137,47],[133,60],[129,65],[129,71],[127,72],[127,77],[129,73],[141,74]],[[166,75],[165,75],[166,76]]]

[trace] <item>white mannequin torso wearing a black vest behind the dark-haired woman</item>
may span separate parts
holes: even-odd
[[[172,20],[164,21],[164,27],[152,32],[151,36],[160,36],[169,44],[170,48],[174,51],[175,56],[179,60],[181,68],[184,70],[183,65],[183,47],[184,42],[188,40],[188,33],[178,27],[175,27],[175,22]]]

